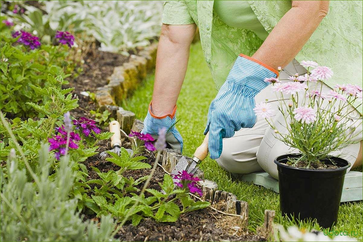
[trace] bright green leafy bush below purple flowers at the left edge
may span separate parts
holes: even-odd
[[[33,117],[36,114],[34,105],[29,106],[26,102],[39,105],[45,101],[40,90],[53,85],[49,83],[48,74],[64,78],[70,75],[64,73],[69,65],[65,61],[68,47],[41,45],[39,49],[28,50],[24,45],[16,44],[16,40],[9,33],[1,34],[0,105],[4,112],[12,115]]]

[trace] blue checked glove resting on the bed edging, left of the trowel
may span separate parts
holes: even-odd
[[[165,135],[166,143],[169,144],[172,149],[183,151],[183,138],[181,138],[179,131],[176,130],[175,123],[176,105],[172,114],[158,117],[152,114],[150,103],[147,115],[144,119],[144,128],[141,132],[143,134],[151,134],[155,139],[158,139],[159,130],[165,128],[167,130]]]

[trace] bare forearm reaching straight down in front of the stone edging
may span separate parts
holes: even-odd
[[[195,30],[195,24],[162,26],[152,93],[151,111],[156,116],[171,114],[174,109],[187,71]]]

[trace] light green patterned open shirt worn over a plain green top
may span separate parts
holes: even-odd
[[[291,8],[290,0],[248,3],[268,33]],[[219,89],[238,54],[252,56],[263,41],[250,29],[225,24],[213,5],[213,0],[165,1],[163,23],[199,27],[204,57]],[[362,86],[362,7],[362,1],[330,1],[328,15],[295,57],[331,67],[334,77],[326,82],[331,87],[337,83]]]

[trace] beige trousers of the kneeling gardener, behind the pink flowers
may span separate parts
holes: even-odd
[[[307,73],[307,70],[296,60],[293,60],[281,71],[280,81],[290,81],[288,77],[295,75],[295,73],[302,75]],[[255,101],[260,103],[268,99],[273,109],[276,110],[276,115],[273,119],[275,125],[278,126],[279,120],[281,121],[280,123],[284,123],[282,122],[283,116],[277,111],[279,102],[271,87],[272,85],[269,85],[258,93]],[[331,88],[323,83],[322,93],[329,90]],[[289,99],[289,97],[286,97],[286,99]],[[339,155],[351,164],[354,164],[360,148],[359,141],[362,140],[362,118],[354,108],[351,106],[349,108],[350,123],[347,125],[350,126],[354,136],[353,140],[357,143],[350,144],[331,155]],[[286,128],[282,126],[277,127],[277,129],[279,132],[287,132]],[[216,161],[221,167],[231,173],[248,174],[266,171],[275,179],[278,179],[277,165],[274,163],[274,159],[287,153],[297,153],[297,150],[285,145],[282,141],[275,138],[275,135],[265,119],[257,118],[257,122],[252,128],[241,128],[235,132],[233,137],[223,139],[223,151]]]

